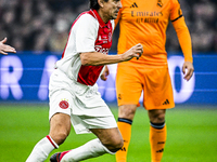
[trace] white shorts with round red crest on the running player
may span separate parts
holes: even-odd
[[[71,116],[77,134],[90,133],[89,129],[117,127],[115,118],[101,98],[98,85],[84,85],[55,69],[49,83],[49,119],[58,112]]]

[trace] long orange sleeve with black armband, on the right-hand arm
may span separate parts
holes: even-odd
[[[182,16],[182,11],[178,0],[171,0],[173,8],[170,11],[170,21],[176,30],[179,44],[181,46],[184,60],[193,63],[192,58],[192,44],[189,29],[186,25],[184,17]]]

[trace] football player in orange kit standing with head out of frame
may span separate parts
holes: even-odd
[[[150,119],[152,162],[162,160],[166,141],[166,109],[174,108],[174,96],[167,65],[166,29],[171,22],[184,56],[182,72],[189,81],[193,75],[192,45],[178,0],[122,0],[115,24],[119,24],[118,53],[141,43],[143,54],[119,63],[116,76],[118,129],[124,147],[117,162],[126,162],[131,124],[143,91],[143,107]]]

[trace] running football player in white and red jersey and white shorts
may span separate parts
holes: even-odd
[[[139,43],[120,55],[107,55],[119,0],[90,0],[90,11],[72,25],[62,58],[49,83],[50,133],[33,149],[26,162],[43,162],[71,132],[93,133],[97,138],[69,151],[54,153],[51,162],[82,161],[104,153],[114,154],[124,141],[110,108],[98,92],[97,80],[106,79],[105,65],[139,58]]]

